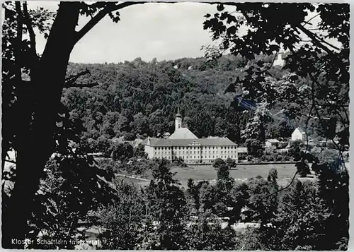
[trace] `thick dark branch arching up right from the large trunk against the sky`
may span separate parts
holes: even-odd
[[[93,26],[95,26],[100,20],[102,20],[102,18],[104,18],[105,15],[107,15],[108,13],[112,11],[118,11],[121,8],[125,8],[127,6],[132,6],[135,4],[144,4],[144,3],[145,2],[143,1],[123,2],[122,4],[117,4],[115,6],[107,6],[103,8],[101,11],[99,11],[96,14],[96,16],[93,16],[93,18],[91,18],[91,20],[89,20],[89,22],[86,23],[86,25],[83,28],[81,28],[81,30],[76,32],[76,42],[81,40],[81,38],[84,37],[84,35],[86,35],[86,33],[89,32],[89,30],[91,30]]]

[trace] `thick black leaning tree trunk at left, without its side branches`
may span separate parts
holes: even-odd
[[[55,120],[70,53],[76,43],[78,2],[61,2],[42,58],[33,69],[30,93],[19,95],[16,181],[3,209],[3,247],[23,248],[28,217],[45,163],[52,154]],[[31,117],[33,117],[32,120]],[[15,242],[14,242],[15,241]]]

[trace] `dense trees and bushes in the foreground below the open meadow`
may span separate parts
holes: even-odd
[[[348,212],[348,199],[336,205],[333,200],[343,199],[335,185],[348,178],[342,172],[336,181],[326,180],[326,169],[318,172],[318,182],[295,179],[279,193],[275,192],[282,186],[275,169],[268,179],[258,176],[242,184],[221,171],[217,184],[195,184],[190,179],[184,191],[162,161],[154,170],[156,181],[147,188],[121,184],[118,198],[122,200],[100,214],[103,227],[109,230],[103,239],[113,241],[103,248],[345,250],[348,215],[338,212]],[[348,191],[341,193],[348,196]],[[240,222],[258,226],[240,230]],[[331,228],[333,222],[338,222],[337,234]]]

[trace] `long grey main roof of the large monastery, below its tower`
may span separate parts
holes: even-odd
[[[188,146],[188,145],[202,145],[202,146],[236,146],[236,143],[229,140],[229,138],[199,138],[199,139],[161,139],[149,138],[144,140],[143,144],[150,146]]]

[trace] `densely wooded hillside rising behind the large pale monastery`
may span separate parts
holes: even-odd
[[[273,56],[262,56],[272,61]],[[69,64],[67,76],[84,71],[79,83],[98,83],[93,88],[64,90],[62,101],[73,119],[84,124],[83,137],[97,139],[124,136],[161,136],[174,131],[174,116],[181,108],[184,124],[198,137],[227,136],[242,143],[240,132],[248,112],[233,102],[234,94],[224,93],[229,83],[244,74],[246,61],[223,56],[145,62],[142,59],[119,64]],[[285,71],[274,67],[273,78]],[[281,104],[275,107],[281,109]],[[280,114],[269,123],[268,137],[290,136],[296,121]]]

